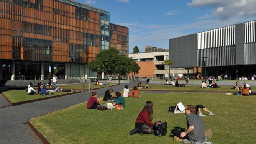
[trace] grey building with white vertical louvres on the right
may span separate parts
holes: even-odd
[[[251,77],[256,73],[255,33],[254,20],[169,39],[172,67],[205,66],[207,76]]]

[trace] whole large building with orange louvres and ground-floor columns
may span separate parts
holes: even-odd
[[[95,77],[87,64],[110,47],[111,25],[109,12],[74,0],[1,0],[0,80]],[[113,33],[128,56],[128,28]]]

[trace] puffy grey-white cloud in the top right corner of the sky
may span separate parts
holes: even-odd
[[[189,7],[211,8],[212,15],[220,20],[256,15],[255,0],[192,0],[187,5]]]

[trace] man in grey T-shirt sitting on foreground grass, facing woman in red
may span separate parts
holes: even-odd
[[[186,131],[172,129],[171,133],[174,135],[174,140],[182,141],[182,139],[187,139],[190,142],[205,142],[205,123],[202,118],[195,114],[195,112],[195,107],[193,105],[187,105],[185,107],[188,128]]]

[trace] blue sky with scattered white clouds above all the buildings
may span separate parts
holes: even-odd
[[[169,39],[256,20],[255,0],[77,0],[110,12],[129,28],[129,52],[169,49]]]

